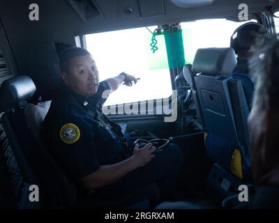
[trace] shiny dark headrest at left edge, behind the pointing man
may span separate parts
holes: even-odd
[[[7,79],[0,88],[0,109],[7,112],[17,107],[20,102],[31,98],[36,91],[36,86],[31,77],[20,75]]]

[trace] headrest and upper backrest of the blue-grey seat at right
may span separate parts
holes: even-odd
[[[197,51],[193,70],[200,73],[195,84],[206,132],[239,148],[243,167],[247,169],[250,167],[248,104],[241,81],[231,77],[235,66],[232,48],[209,48]]]

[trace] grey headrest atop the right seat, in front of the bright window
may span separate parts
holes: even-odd
[[[193,63],[193,72],[231,75],[236,64],[236,55],[231,47],[198,49]]]

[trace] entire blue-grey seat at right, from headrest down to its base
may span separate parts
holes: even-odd
[[[236,57],[232,48],[198,49],[193,63],[193,71],[199,73],[195,77],[195,84],[204,129],[209,134],[206,148],[209,156],[218,164],[211,170],[208,182],[217,188],[216,191],[222,191],[219,195],[223,198],[226,194],[232,194],[229,188],[237,192],[241,180],[250,180],[251,177],[248,106],[241,81],[231,77],[235,66]],[[235,151],[240,152],[241,162],[235,166],[241,169],[241,174],[236,174],[232,161]]]

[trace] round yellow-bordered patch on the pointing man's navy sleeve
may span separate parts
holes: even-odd
[[[66,144],[73,144],[80,139],[80,129],[73,123],[67,123],[60,130],[60,138]]]

